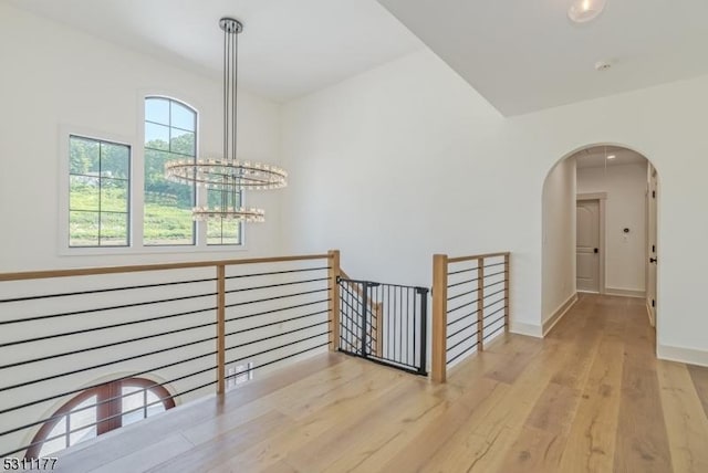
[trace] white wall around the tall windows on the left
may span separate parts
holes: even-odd
[[[0,271],[117,265],[244,256],[235,250],[189,254],[184,250],[140,255],[61,256],[58,176],[60,127],[93,130],[133,144],[140,159],[144,93],[180,98],[200,113],[199,151],[222,149],[219,81],[160,63],[62,24],[0,4]],[[247,92],[239,95],[239,150],[277,161],[279,105]],[[274,193],[249,195],[268,221],[247,228],[248,254],[279,253]],[[138,235],[139,238],[139,235]]]

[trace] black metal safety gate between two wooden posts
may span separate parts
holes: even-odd
[[[427,376],[428,288],[339,278],[340,351]]]

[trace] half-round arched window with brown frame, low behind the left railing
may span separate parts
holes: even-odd
[[[42,425],[25,456],[49,456],[174,407],[169,391],[149,379],[128,378],[87,389]]]

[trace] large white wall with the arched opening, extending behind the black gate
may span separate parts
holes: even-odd
[[[539,333],[544,179],[587,145],[624,145],[662,176],[658,343],[708,351],[697,315],[708,255],[696,251],[708,238],[696,218],[707,106],[704,76],[503,119],[434,54],[415,53],[284,107],[283,244],[339,246],[351,275],[416,284],[430,283],[435,252],[511,250],[512,328]]]

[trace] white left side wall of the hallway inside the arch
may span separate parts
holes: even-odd
[[[543,185],[542,322],[575,295],[575,162],[555,165]]]

